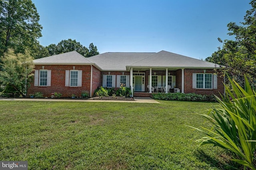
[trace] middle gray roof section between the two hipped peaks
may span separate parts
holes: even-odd
[[[87,58],[104,71],[124,71],[126,66],[155,53],[103,53]]]

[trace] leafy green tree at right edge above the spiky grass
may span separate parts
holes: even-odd
[[[226,66],[227,72],[240,85],[244,83],[244,74],[256,85],[256,0],[250,2],[252,9],[246,11],[244,22],[237,25],[228,23],[228,35],[235,40],[218,40],[223,43],[206,61]]]

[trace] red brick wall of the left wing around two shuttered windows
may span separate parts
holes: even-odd
[[[66,70],[73,70],[73,66],[75,66],[75,70],[82,70],[82,87],[65,87]],[[42,65],[35,66],[35,70],[40,69],[42,69]],[[44,97],[50,97],[51,93],[58,92],[62,94],[62,97],[71,97],[72,94],[79,97],[82,91],[90,92],[90,65],[44,65],[44,69],[52,70],[51,86],[34,86],[33,80],[27,94],[42,92]],[[96,72],[97,68],[94,69]]]

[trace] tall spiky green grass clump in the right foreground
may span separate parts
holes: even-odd
[[[199,114],[213,126],[194,128],[204,133],[196,140],[200,145],[229,150],[232,161],[244,169],[256,170],[256,92],[245,77],[245,89],[230,78],[232,91],[226,86],[226,94],[216,99],[220,107],[213,107],[208,114]]]

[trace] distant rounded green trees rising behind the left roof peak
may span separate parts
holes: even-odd
[[[98,49],[93,43],[90,43],[89,49],[77,42],[75,39],[62,40],[57,45],[50,44],[46,46],[46,49],[49,51],[49,55],[57,55],[61,53],[67,53],[70,51],[77,51],[84,57],[91,57],[93,55],[98,55]]]

